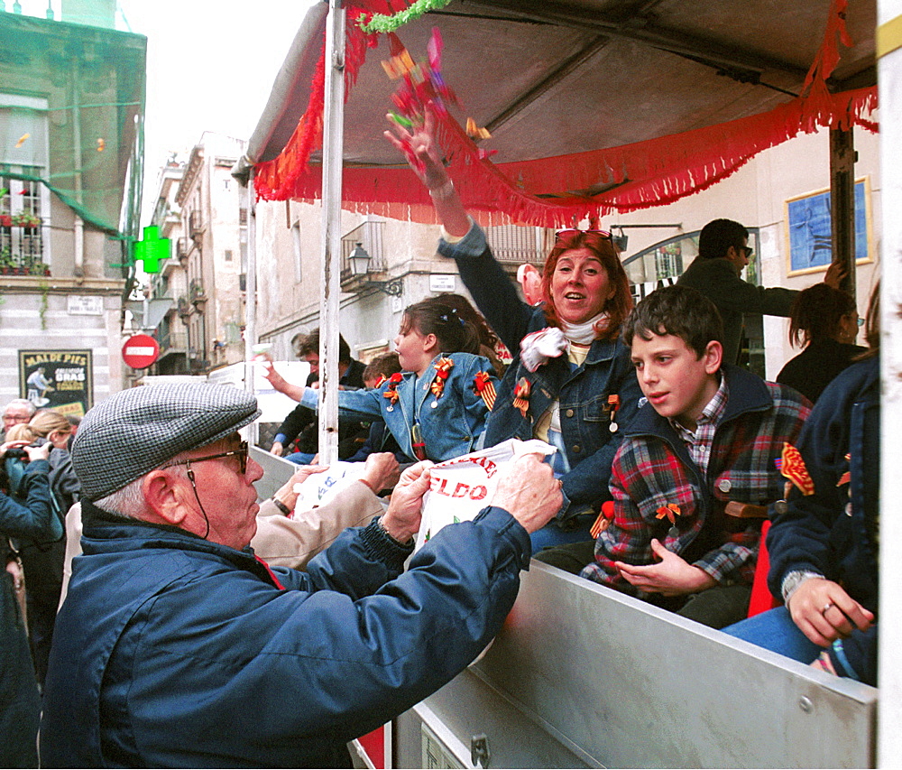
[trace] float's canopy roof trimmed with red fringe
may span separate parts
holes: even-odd
[[[391,54],[360,24],[387,5],[346,4],[343,205],[434,221],[382,137]],[[264,199],[320,197],[325,11],[308,14],[250,142]],[[478,212],[570,225],[704,190],[818,127],[876,130],[873,0],[419,0],[406,15],[396,33],[415,60],[433,27],[444,39],[460,99],[443,126],[449,172]],[[467,117],[492,137],[477,146]]]

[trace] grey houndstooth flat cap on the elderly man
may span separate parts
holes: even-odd
[[[72,444],[81,494],[111,495],[259,416],[257,399],[232,385],[143,385],[114,394],[88,410]]]

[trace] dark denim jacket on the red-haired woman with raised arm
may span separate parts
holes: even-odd
[[[439,241],[438,253],[454,258],[476,306],[514,354],[489,415],[484,445],[491,447],[514,437],[531,439],[538,420],[559,401],[561,433],[571,469],[562,477],[564,504],[557,522],[564,524],[576,515],[597,511],[611,499],[608,480],[614,454],[641,396],[630,349],[619,339],[596,339],[583,365],[575,371],[571,371],[566,356],[561,356],[529,372],[520,363],[520,340],[548,326],[545,312],[520,300],[475,223],[456,244]],[[513,391],[521,378],[529,382],[525,414],[513,405]],[[612,394],[620,398],[614,413],[608,404]]]

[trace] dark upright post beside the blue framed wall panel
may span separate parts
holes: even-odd
[[[830,129],[830,220],[833,260],[846,276],[841,288],[855,297],[855,138],[851,128]]]

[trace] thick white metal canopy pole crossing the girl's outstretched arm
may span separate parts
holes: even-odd
[[[345,10],[329,0],[323,125],[323,298],[319,305],[319,461],[338,459],[338,299],[345,124]]]

